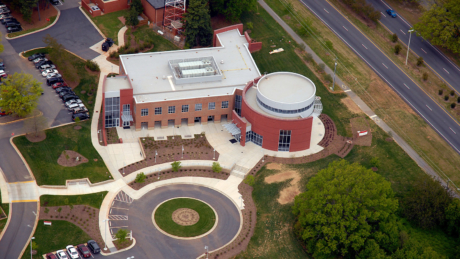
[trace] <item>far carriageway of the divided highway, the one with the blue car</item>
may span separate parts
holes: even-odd
[[[399,16],[399,14],[396,18],[390,17],[386,13],[386,10],[392,8],[384,1],[372,0],[367,2],[382,13],[380,22],[390,31],[396,33],[399,39],[407,45],[409,43],[409,30],[412,28],[412,25]],[[418,56],[423,57],[425,64],[429,65],[452,89],[457,91],[457,94],[460,94],[460,85],[458,84],[460,82],[460,69],[441,51],[423,37],[417,36],[414,32],[410,40],[410,49]]]

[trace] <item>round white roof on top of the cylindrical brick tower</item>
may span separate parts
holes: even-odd
[[[316,88],[309,79],[294,73],[272,73],[257,83],[259,92],[278,103],[299,103],[311,98]]]

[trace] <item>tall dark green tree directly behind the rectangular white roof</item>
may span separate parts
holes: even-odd
[[[183,19],[185,21],[184,35],[190,47],[211,45],[213,31],[206,0],[191,0]]]

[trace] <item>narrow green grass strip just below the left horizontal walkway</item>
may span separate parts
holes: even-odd
[[[99,209],[102,201],[107,195],[107,192],[97,192],[85,195],[42,195],[40,196],[40,206],[65,206],[65,205],[88,205]],[[81,198],[81,202],[78,203],[78,197]],[[65,199],[68,200],[68,204],[65,203]]]

